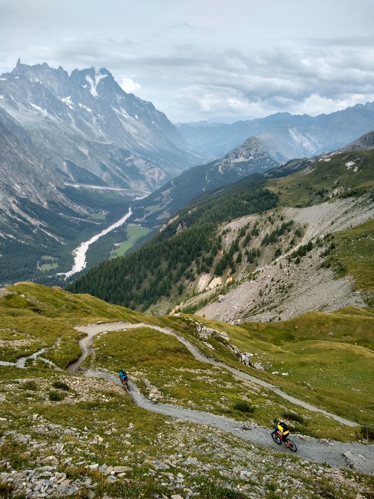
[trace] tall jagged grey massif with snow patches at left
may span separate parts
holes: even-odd
[[[105,68],[69,76],[61,66],[18,60],[0,76],[0,108],[2,124],[67,183],[153,190],[197,162],[165,114],[122,90]]]

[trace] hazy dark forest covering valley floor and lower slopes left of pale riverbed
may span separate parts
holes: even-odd
[[[102,223],[87,215],[77,213],[66,206],[49,202],[48,209],[26,199],[18,199],[18,210],[9,209],[11,223],[0,219],[0,285],[7,285],[21,280],[32,280],[45,285],[64,285],[63,277],[55,274],[71,269],[72,251],[82,242],[82,234],[87,239],[97,234],[102,228],[119,220],[128,210],[127,198],[115,194],[85,193],[73,188],[63,191],[66,197],[84,204],[88,210],[105,211]],[[33,224],[30,220],[38,221]],[[121,235],[120,241],[125,236]],[[95,254],[92,265],[109,257],[111,245],[102,245]],[[43,272],[39,264],[43,256],[48,255],[58,262],[58,268]],[[91,255],[90,255],[91,256]],[[50,276],[52,274],[52,276]]]

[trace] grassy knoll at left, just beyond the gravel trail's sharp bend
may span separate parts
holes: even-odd
[[[73,325],[97,320],[137,322],[142,317],[92,296],[76,296],[59,288],[27,282],[7,289],[10,294],[0,300],[0,340],[4,342],[0,360],[7,362],[47,348],[43,357],[66,368],[80,354],[77,341],[81,333]],[[23,342],[14,349],[14,340]]]

